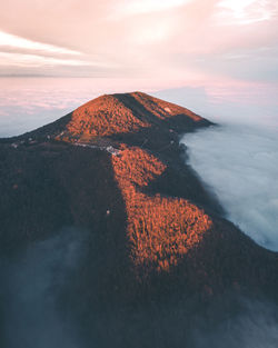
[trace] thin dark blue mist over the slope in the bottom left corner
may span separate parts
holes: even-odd
[[[82,233],[64,229],[1,259],[2,348],[85,347],[59,302],[70,272],[78,267],[82,238]]]

